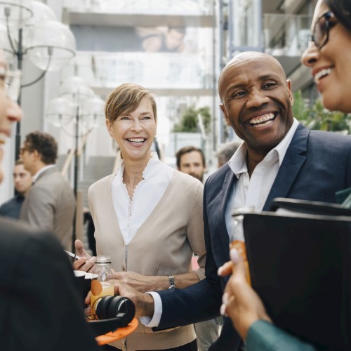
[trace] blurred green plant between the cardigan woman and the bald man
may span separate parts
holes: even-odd
[[[196,133],[199,131],[199,117],[202,119],[202,123],[204,124],[205,132],[208,133],[211,127],[211,113],[210,107],[200,107],[196,109],[194,106],[188,107],[185,110],[182,118],[180,119],[180,123],[174,126],[173,131],[175,132],[191,132]]]

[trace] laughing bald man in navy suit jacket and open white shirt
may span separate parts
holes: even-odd
[[[217,271],[229,260],[233,208],[267,210],[274,197],[336,202],[335,193],[351,186],[351,136],[310,131],[298,123],[290,81],[275,58],[239,53],[220,74],[218,90],[225,120],[244,142],[206,180],[206,278],[186,289],[157,293],[141,294],[120,282],[115,289],[133,300],[137,313],[149,317],[143,322],[155,331],[219,315],[227,279]],[[209,350],[243,347],[225,318]]]

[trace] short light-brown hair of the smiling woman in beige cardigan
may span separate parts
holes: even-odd
[[[110,93],[105,103],[105,117],[114,122],[121,114],[129,114],[135,111],[143,98],[150,101],[156,120],[157,107],[154,96],[143,86],[133,83],[121,84]]]

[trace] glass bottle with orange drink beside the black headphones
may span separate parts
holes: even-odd
[[[91,282],[91,312],[95,314],[98,299],[103,296],[114,296],[114,281],[110,256],[97,256],[95,273],[98,278]]]

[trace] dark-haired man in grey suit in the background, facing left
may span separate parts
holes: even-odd
[[[48,133],[29,133],[20,157],[34,182],[22,205],[20,219],[36,229],[53,232],[64,249],[71,249],[75,199],[72,187],[55,166],[56,140]]]

